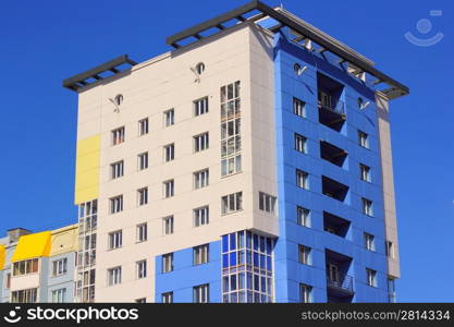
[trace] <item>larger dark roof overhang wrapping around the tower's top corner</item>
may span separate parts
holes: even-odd
[[[315,50],[317,48],[317,51],[319,52],[330,51],[339,57],[340,64],[348,63],[351,68],[353,66],[356,76],[363,73],[368,73],[376,78],[372,82],[372,85],[386,84],[386,87],[380,89],[380,92],[389,99],[394,99],[409,94],[407,86],[376,69],[372,61],[348,48],[346,45],[314,27],[307,22],[294,16],[285,10],[280,8],[273,9],[258,0],[250,1],[214,19],[176,33],[167,38],[167,44],[175,49],[179,49],[231,28],[228,27],[226,24],[232,21],[236,24],[246,22],[258,23],[266,17],[272,19],[277,22],[277,25],[267,28],[270,32],[278,33],[282,27],[289,27],[292,32],[291,34],[294,36],[292,39],[293,41],[298,44],[302,41],[306,44],[310,41],[311,44],[315,44],[314,48],[311,46],[311,49]],[[204,36],[211,31],[216,32],[209,34],[208,36]],[[182,45],[183,43],[185,44]]]

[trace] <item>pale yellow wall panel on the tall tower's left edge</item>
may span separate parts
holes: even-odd
[[[98,197],[100,148],[100,135],[77,142],[75,204]]]

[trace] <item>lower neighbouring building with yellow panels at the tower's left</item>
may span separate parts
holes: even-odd
[[[1,302],[74,302],[78,225],[32,233],[17,228],[0,239]]]

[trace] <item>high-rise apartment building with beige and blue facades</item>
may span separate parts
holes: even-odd
[[[78,95],[76,300],[389,302],[389,101],[408,88],[253,1],[65,80]]]

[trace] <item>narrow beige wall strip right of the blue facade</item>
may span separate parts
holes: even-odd
[[[388,256],[388,272],[393,278],[401,277],[397,240],[397,218],[395,211],[394,174],[391,150],[391,130],[388,99],[377,94],[377,112],[379,122],[380,155],[383,178],[384,225],[386,240],[393,243],[392,256]]]

